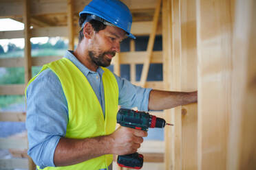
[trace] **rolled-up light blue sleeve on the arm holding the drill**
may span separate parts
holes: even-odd
[[[65,136],[67,99],[58,77],[43,71],[27,88],[28,155],[41,169],[55,167],[54,151],[61,136]]]

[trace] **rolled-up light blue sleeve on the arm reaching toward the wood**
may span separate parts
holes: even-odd
[[[115,76],[119,87],[119,105],[122,108],[137,107],[138,110],[149,111],[149,94],[152,88],[142,88],[125,78]]]

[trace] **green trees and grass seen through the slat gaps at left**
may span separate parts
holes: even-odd
[[[67,43],[59,39],[55,45],[49,41],[45,44],[31,43],[32,56],[63,56],[67,50]],[[9,43],[8,51],[4,53],[3,47],[0,45],[0,58],[15,58],[23,57],[24,50],[16,45]],[[24,68],[0,68],[0,84],[24,84]],[[41,71],[41,66],[32,66],[32,77]],[[3,95],[0,96],[0,108],[10,106],[10,104],[17,104],[24,102],[23,95]]]

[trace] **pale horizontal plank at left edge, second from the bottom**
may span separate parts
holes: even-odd
[[[1,149],[28,149],[27,138],[0,138]]]

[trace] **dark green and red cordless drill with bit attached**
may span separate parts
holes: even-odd
[[[153,116],[148,112],[139,112],[123,108],[118,111],[116,119],[117,123],[119,123],[121,126],[144,131],[148,131],[149,127],[163,128],[165,125],[173,125],[166,123],[164,119]],[[143,156],[142,154],[138,154],[138,152],[118,156],[117,163],[120,167],[141,169],[143,165]]]

